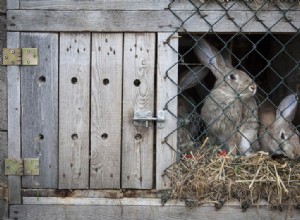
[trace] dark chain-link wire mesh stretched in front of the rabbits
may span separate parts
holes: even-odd
[[[255,9],[254,3],[243,2],[252,13],[240,14],[240,20],[232,17],[236,4],[241,4],[238,1],[229,7],[226,2],[214,1],[219,11],[213,19],[205,14],[207,1],[186,1],[189,10],[185,13],[176,10],[176,1],[169,4],[168,10],[181,24],[170,36],[180,32],[176,50],[178,146],[170,147],[181,156],[203,143],[211,155],[249,156],[266,151],[290,159],[300,156],[300,52],[296,49],[300,48],[300,36],[287,13],[299,3],[288,7],[273,3],[277,10],[271,23],[259,16],[270,3],[259,2]],[[207,26],[206,32],[188,31],[189,22],[195,19]],[[224,20],[225,26],[236,31],[225,33]],[[255,33],[249,32],[253,20],[260,25]],[[280,32],[288,33],[279,33],[279,26]]]

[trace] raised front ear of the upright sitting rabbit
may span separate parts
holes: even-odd
[[[194,51],[200,62],[208,67],[217,79],[223,78],[226,63],[214,46],[200,38]]]

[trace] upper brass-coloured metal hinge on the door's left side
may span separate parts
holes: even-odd
[[[3,48],[2,64],[5,66],[38,65],[38,48]]]

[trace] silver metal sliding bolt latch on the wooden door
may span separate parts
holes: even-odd
[[[161,110],[157,113],[157,118],[152,116],[152,112],[149,111],[135,111],[133,116],[133,124],[135,126],[149,127],[149,121],[156,121],[158,128],[164,128],[165,111]]]

